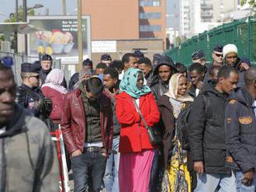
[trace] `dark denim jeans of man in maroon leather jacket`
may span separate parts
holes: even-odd
[[[71,159],[74,177],[74,192],[101,190],[106,169],[106,158],[102,153],[85,152]]]

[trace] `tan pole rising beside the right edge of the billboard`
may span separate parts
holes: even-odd
[[[78,0],[78,66],[83,63],[83,36],[81,32],[81,1]]]

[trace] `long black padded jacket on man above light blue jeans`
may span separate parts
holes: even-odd
[[[225,167],[224,115],[227,95],[217,91],[215,85],[214,81],[209,81],[195,98],[189,115],[189,145],[192,160],[202,161],[206,173],[230,173]]]

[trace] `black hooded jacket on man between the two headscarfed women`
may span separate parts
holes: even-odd
[[[171,62],[159,63],[157,64],[157,67],[154,68],[153,78],[152,78],[153,80],[151,82],[150,88],[152,90],[152,93],[155,99],[161,98],[161,96],[169,90],[169,81],[166,81],[166,82],[161,81],[161,78],[158,75],[158,69],[162,65],[167,65],[168,67],[171,67],[171,70],[175,70],[175,66]]]

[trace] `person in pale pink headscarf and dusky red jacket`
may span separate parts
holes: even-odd
[[[54,130],[58,129],[61,123],[61,112],[64,106],[64,94],[67,89],[61,84],[64,80],[64,73],[60,69],[53,69],[47,74],[45,84],[42,86],[43,95],[52,101],[50,120],[54,122]]]

